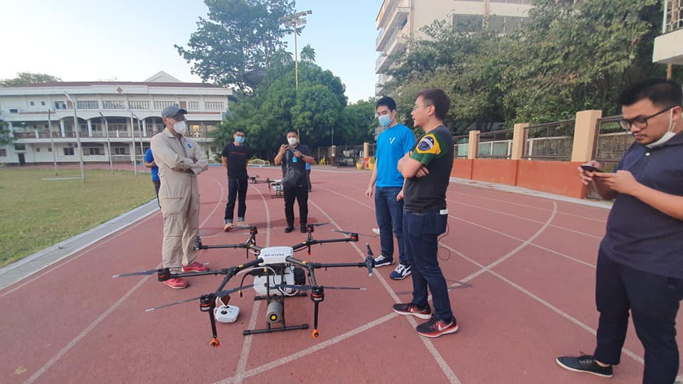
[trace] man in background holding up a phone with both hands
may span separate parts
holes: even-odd
[[[294,230],[294,201],[299,203],[299,220],[302,233],[306,233],[308,222],[308,178],[306,176],[306,163],[314,164],[315,159],[311,156],[308,146],[299,143],[299,135],[296,129],[287,131],[287,144],[280,146],[280,151],[275,156],[275,165],[282,164],[282,177],[287,174],[287,169],[295,169],[297,180],[295,186],[285,186],[282,183],[282,193],[285,195],[285,218],[287,228],[285,233]]]

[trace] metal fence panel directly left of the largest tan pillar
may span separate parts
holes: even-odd
[[[571,160],[574,120],[562,120],[524,128],[522,157],[527,160]]]

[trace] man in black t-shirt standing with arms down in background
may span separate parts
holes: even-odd
[[[228,169],[228,203],[226,204],[225,232],[233,229],[233,214],[235,212],[235,198],[238,198],[237,225],[248,227],[244,221],[247,212],[247,163],[251,157],[251,148],[245,144],[246,134],[243,129],[235,129],[234,142],[226,145],[221,153],[223,166]]]

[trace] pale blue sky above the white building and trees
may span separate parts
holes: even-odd
[[[374,96],[375,17],[382,0],[297,0],[311,10],[297,38],[316,63],[346,85],[356,102]],[[144,81],[159,70],[184,82],[201,81],[174,44],[186,46],[208,8],[198,0],[2,0],[0,79],[18,72],[47,73],[64,81]],[[288,36],[293,52],[294,38]]]

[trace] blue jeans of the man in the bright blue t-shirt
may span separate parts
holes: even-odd
[[[375,188],[375,215],[379,226],[379,242],[382,255],[393,260],[393,234],[398,242],[398,262],[410,266],[411,261],[403,252],[403,200],[396,201],[401,187]]]

